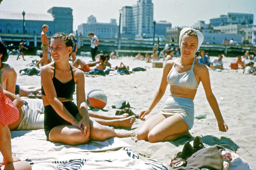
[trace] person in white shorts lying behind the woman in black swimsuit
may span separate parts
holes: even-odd
[[[19,119],[8,125],[10,130],[36,130],[44,129],[44,104],[41,99],[20,99],[17,95],[5,91],[6,97],[12,100],[19,110]],[[96,122],[119,128],[132,127],[135,116],[129,116],[128,112],[122,111],[122,115],[100,115],[89,112],[89,115]]]

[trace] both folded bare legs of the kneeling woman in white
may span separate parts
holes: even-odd
[[[151,143],[174,141],[181,137],[192,137],[188,132],[188,124],[179,115],[165,118],[162,114],[150,117],[139,129],[138,140]]]

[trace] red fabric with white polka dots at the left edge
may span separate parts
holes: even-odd
[[[19,119],[20,113],[18,108],[12,103],[4,92],[0,92],[0,124],[5,125],[12,124]]]

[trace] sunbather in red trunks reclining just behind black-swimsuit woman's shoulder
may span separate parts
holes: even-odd
[[[89,72],[91,70],[94,70],[95,68],[99,70],[105,70],[105,60],[107,58],[107,55],[100,55],[100,60],[95,62],[89,62],[85,63],[83,60],[77,58],[76,61],[73,63],[73,66],[84,71]],[[80,67],[79,67],[80,66]]]

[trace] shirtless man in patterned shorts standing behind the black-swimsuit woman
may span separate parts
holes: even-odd
[[[43,57],[40,59],[39,62],[36,63],[36,67],[39,68],[39,64],[40,63],[44,63],[44,64],[48,64],[48,58],[47,58],[47,55],[49,53],[49,40],[47,38],[47,31],[48,31],[48,28],[49,26],[47,26],[46,24],[44,24],[42,26],[43,28],[43,31],[41,33],[41,41],[42,41],[42,45],[41,45],[41,48],[42,48],[42,51],[43,51]]]

